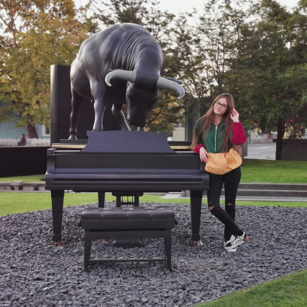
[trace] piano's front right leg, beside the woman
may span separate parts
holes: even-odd
[[[200,212],[203,191],[190,191],[192,241],[200,241]]]

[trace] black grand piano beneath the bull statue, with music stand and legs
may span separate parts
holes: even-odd
[[[45,189],[51,191],[54,243],[62,241],[64,190],[98,192],[99,207],[104,207],[105,192],[138,198],[144,192],[190,190],[191,240],[200,240],[201,199],[209,176],[198,155],[187,146],[169,144],[167,133],[87,131],[87,135],[87,144],[61,140],[47,150]]]

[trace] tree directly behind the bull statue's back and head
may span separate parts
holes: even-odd
[[[150,2],[148,0],[96,0],[93,6],[94,19],[101,29],[124,22],[136,23],[148,29],[158,41],[165,56],[163,75],[178,78],[176,71],[169,68],[171,61],[169,35],[172,31],[170,23],[174,15],[161,12],[158,9],[159,3],[157,0]],[[124,114],[126,114],[125,106]],[[183,102],[177,101],[172,91],[161,90],[157,103],[150,112],[146,129],[148,131],[168,131],[172,133],[173,123],[183,120]],[[136,129],[136,127],[131,127],[131,129]]]

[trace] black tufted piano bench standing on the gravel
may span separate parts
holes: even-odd
[[[178,220],[171,207],[117,207],[84,209],[78,225],[84,229],[84,271],[89,263],[166,262],[171,270],[171,229]],[[90,260],[92,239],[164,238],[162,259]]]

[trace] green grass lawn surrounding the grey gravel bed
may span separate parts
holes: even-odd
[[[303,183],[307,162],[243,159],[241,182]],[[45,175],[5,177],[0,181],[41,182]],[[115,197],[106,194],[106,201]],[[140,197],[141,202],[189,203],[189,199],[161,199],[158,195]],[[65,193],[64,206],[98,202],[97,193]],[[204,200],[203,203],[206,201]],[[237,201],[238,205],[307,207],[306,202]],[[0,215],[51,208],[50,193],[0,192]],[[198,307],[300,307],[307,306],[307,270],[278,278],[248,289],[235,291]]]

